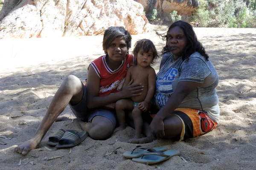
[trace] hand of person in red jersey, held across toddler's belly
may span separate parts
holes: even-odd
[[[133,82],[133,79],[131,79],[131,81],[127,86],[124,86],[122,88],[121,92],[122,92],[123,99],[141,95],[140,92],[143,91],[144,86],[139,83],[132,84],[132,82]]]

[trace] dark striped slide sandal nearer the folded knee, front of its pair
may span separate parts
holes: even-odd
[[[67,148],[78,145],[83,142],[88,136],[87,131],[81,131],[79,133],[74,132],[73,130],[67,130],[66,133],[59,140],[56,148]]]

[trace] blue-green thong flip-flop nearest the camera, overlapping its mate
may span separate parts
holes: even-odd
[[[148,149],[144,151],[143,156],[139,158],[133,158],[131,160],[142,164],[156,164],[178,155],[180,155],[180,151],[178,150],[166,150],[164,152],[158,152]]]

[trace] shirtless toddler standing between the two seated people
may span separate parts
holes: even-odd
[[[133,139],[140,139],[143,129],[142,113],[148,111],[148,105],[155,91],[156,73],[150,64],[157,60],[158,55],[153,42],[148,39],[137,41],[134,45],[133,54],[136,60],[134,65],[128,69],[123,86],[128,85],[133,80],[132,83],[140,83],[144,86],[144,89],[140,92],[140,96],[121,99],[116,102],[116,116],[119,127],[116,127],[114,132],[125,129],[125,110],[132,111],[135,127]],[[131,141],[132,139],[128,142]]]

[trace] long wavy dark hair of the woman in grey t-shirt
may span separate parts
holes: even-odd
[[[196,35],[195,35],[195,31],[193,30],[192,26],[189,23],[186,23],[184,21],[176,21],[175,23],[172,23],[172,25],[168,28],[168,31],[165,34],[159,34],[157,32],[157,35],[159,35],[160,37],[162,37],[163,40],[166,41],[166,46],[163,48],[162,55],[170,52],[167,42],[168,42],[168,38],[167,38],[167,34],[168,32],[174,28],[174,27],[180,27],[180,29],[183,30],[186,38],[187,38],[187,45],[186,47],[183,49],[183,55],[182,55],[182,59],[188,59],[189,56],[191,56],[191,54],[193,54],[194,52],[199,52],[202,56],[205,57],[205,59],[208,60],[209,56],[208,54],[205,52],[203,45],[198,41]]]

